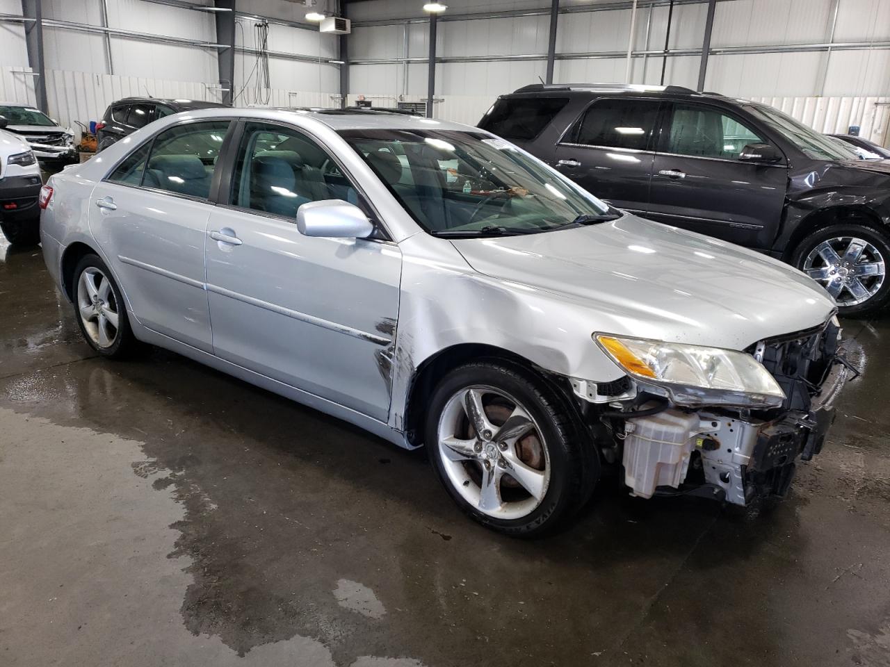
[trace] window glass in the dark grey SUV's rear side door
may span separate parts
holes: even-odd
[[[646,150],[658,116],[658,100],[596,100],[569,133],[569,141],[609,149]]]

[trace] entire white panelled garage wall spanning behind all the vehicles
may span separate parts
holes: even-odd
[[[44,26],[50,112],[63,124],[94,120],[111,100],[126,95],[222,98],[217,48],[199,45],[214,44],[214,15],[190,9],[212,0],[105,2],[109,28],[190,44]],[[43,0],[44,19],[101,26],[102,3]],[[437,58],[443,61],[436,66],[433,114],[475,124],[498,94],[545,76],[550,4],[448,4],[438,26]],[[561,0],[554,83],[624,81],[631,4]],[[665,83],[695,87],[707,0],[676,0],[665,58],[667,4],[637,2],[631,83],[658,84],[664,63]],[[346,4],[353,21],[347,38],[350,102],[359,95],[384,107],[425,100],[429,25],[422,5]],[[331,12],[333,0],[317,6]],[[337,37],[306,23],[303,4],[239,0],[237,9],[236,104],[339,106],[340,66],[329,62],[337,58]],[[271,17],[268,90],[257,81],[256,20],[243,12]],[[498,12],[511,15],[490,17]],[[467,17],[473,14],[480,18]],[[20,0],[0,0],[0,99],[33,103],[23,24],[4,16],[21,16]],[[718,0],[705,88],[769,101],[822,131],[862,125],[863,135],[886,143],[890,0]]]

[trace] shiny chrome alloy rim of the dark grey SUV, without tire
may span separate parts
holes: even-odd
[[[838,306],[855,306],[868,301],[884,284],[885,258],[862,238],[836,237],[816,245],[801,270],[820,282]]]

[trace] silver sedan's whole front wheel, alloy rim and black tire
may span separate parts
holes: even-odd
[[[499,532],[533,536],[593,490],[598,460],[561,402],[521,368],[460,366],[433,393],[425,442],[457,505]]]

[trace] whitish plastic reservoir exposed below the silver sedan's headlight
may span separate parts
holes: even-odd
[[[631,495],[651,498],[656,486],[680,486],[701,430],[698,415],[665,410],[625,423],[624,479]]]

